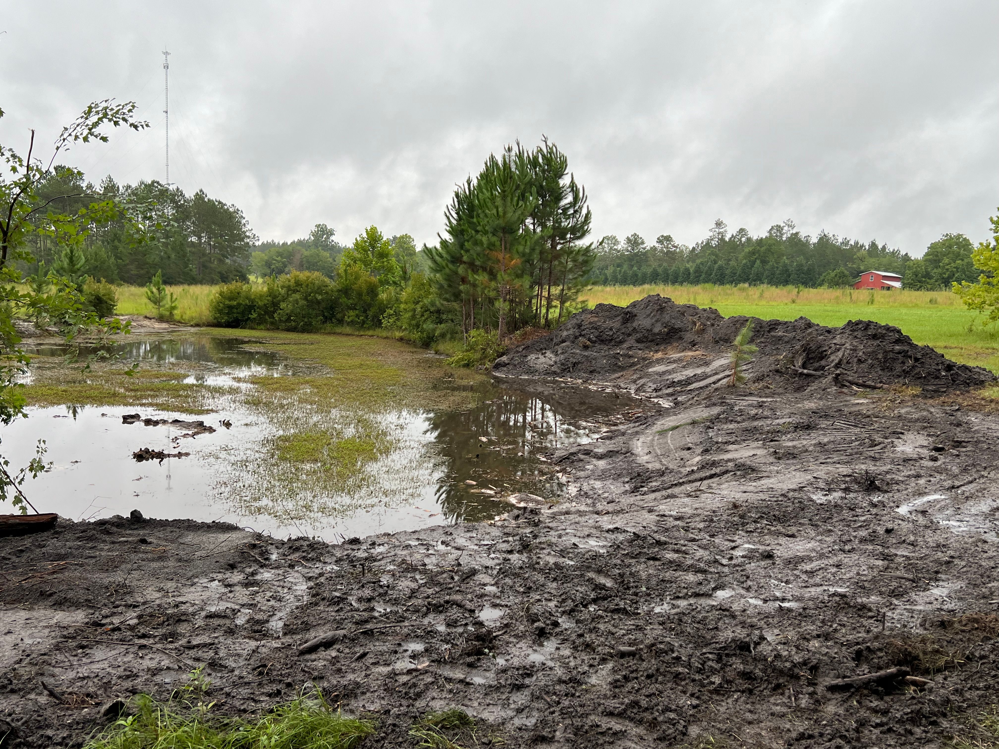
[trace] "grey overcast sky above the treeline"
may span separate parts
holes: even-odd
[[[999,2],[20,2],[0,21],[0,143],[90,101],[151,129],[66,159],[170,178],[261,238],[376,224],[436,242],[455,184],[542,134],[593,235],[793,219],[920,255],[999,205]]]

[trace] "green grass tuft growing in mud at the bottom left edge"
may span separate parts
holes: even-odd
[[[137,695],[131,701],[134,713],[85,749],[354,749],[375,732],[371,721],[334,711],[319,691],[256,719],[215,716],[215,703],[205,700],[209,686],[196,669],[166,703]]]

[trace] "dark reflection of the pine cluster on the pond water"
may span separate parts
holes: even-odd
[[[496,490],[498,497],[527,491],[555,498],[564,486],[557,466],[540,455],[592,441],[636,403],[619,393],[575,387],[528,390],[503,383],[491,394],[469,410],[440,411],[430,418],[427,433],[445,463],[435,492],[450,519],[484,520],[509,509],[476,489]],[[480,439],[484,436],[488,442]]]

